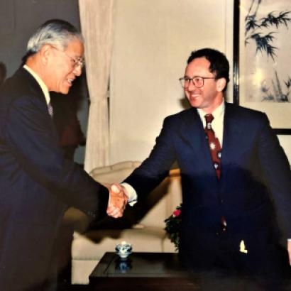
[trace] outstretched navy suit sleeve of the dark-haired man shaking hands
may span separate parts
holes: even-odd
[[[138,196],[146,195],[157,187],[175,162],[175,146],[172,141],[174,128],[170,121],[169,117],[165,119],[149,157],[123,181],[131,185]]]

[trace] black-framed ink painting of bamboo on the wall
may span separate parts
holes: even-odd
[[[290,1],[234,0],[234,104],[265,112],[278,135],[291,134],[289,64]]]

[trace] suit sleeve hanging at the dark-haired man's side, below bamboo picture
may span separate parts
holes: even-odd
[[[258,155],[279,221],[287,237],[291,238],[290,164],[265,115],[259,136]]]

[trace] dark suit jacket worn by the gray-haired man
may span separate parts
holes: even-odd
[[[0,91],[0,290],[45,280],[68,206],[106,214],[106,188],[58,144],[40,86],[19,69]]]

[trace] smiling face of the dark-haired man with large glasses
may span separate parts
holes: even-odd
[[[214,73],[209,71],[210,62],[205,57],[197,57],[190,62],[185,70],[185,77],[215,77]],[[210,114],[223,101],[222,90],[225,87],[225,79],[204,79],[204,85],[201,88],[194,86],[189,82],[185,87],[185,94],[192,107],[203,109]]]

